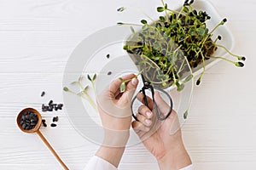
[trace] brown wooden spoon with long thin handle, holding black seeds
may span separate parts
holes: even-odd
[[[32,111],[33,113],[38,115],[38,122],[35,125],[34,128],[26,130],[24,128],[22,128],[22,126],[20,125],[20,117],[26,112],[26,111]],[[51,147],[51,145],[49,144],[49,142],[44,138],[43,134],[39,131],[39,128],[41,127],[41,123],[42,123],[42,116],[41,114],[33,109],[33,108],[26,108],[22,111],[20,111],[19,115],[17,116],[17,124],[20,127],[20,130],[25,132],[25,133],[38,133],[39,137],[44,141],[44,144],[47,145],[47,147],[49,148],[49,150],[53,153],[53,155],[55,156],[55,158],[61,163],[61,166],[64,167],[65,170],[68,170],[67,166],[65,165],[65,163],[63,161],[61,161],[61,158],[57,155],[57,153],[55,152],[55,150]]]

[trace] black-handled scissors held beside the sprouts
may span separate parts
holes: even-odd
[[[139,93],[143,93],[143,101],[144,101],[144,105],[146,105],[148,107],[148,99],[147,99],[147,95],[146,95],[146,90],[150,90],[151,91],[151,94],[152,94],[152,100],[153,100],[153,104],[154,104],[154,112],[156,113],[156,116],[157,116],[157,119],[160,120],[160,121],[164,121],[166,120],[166,118],[168,116],[171,115],[172,113],[172,98],[171,96],[165,91],[165,90],[162,90],[160,88],[154,88],[153,85],[151,85],[151,82],[149,81],[146,81],[143,74],[141,75],[142,76],[142,79],[143,79],[143,88],[139,91]],[[156,105],[156,102],[154,100],[154,89],[156,90],[159,90],[161,93],[165,94],[169,101],[170,101],[170,110],[168,111],[168,113],[166,114],[166,116],[160,116],[160,112],[159,112],[159,109],[158,109],[158,106]],[[135,96],[132,100],[131,100],[131,112],[132,112],[132,116],[133,118],[137,120],[137,117],[135,116],[134,112],[132,111],[132,105],[134,104],[134,101],[137,99],[137,96]],[[148,107],[149,108],[149,107]]]

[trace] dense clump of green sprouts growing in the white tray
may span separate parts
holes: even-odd
[[[218,44],[221,36],[217,35],[218,37],[213,39],[214,31],[219,26],[224,26],[227,19],[221,20],[210,31],[207,21],[211,20],[211,16],[205,11],[193,8],[194,0],[185,0],[179,11],[168,8],[164,0],[161,0],[161,3],[162,6],[156,8],[160,14],[159,20],[152,20],[145,14],[150,23],[145,19],[140,20],[140,24],[118,23],[118,26],[131,26],[131,38],[125,42],[123,48],[130,54],[139,70],[143,69],[143,74],[150,75],[148,81],[153,82],[154,86],[175,86],[177,91],[182,91],[185,83],[194,77],[193,71],[201,65],[202,72],[196,81],[196,84],[200,85],[208,59],[224,59],[237,67],[244,66],[244,56],[232,54],[223,45]],[[123,9],[127,8],[119,8],[118,11],[122,12]],[[132,26],[140,26],[142,29],[135,32]],[[214,55],[218,48],[224,49],[238,61]],[[122,92],[125,90],[125,81],[121,81]],[[192,98],[191,95],[189,99]],[[188,109],[183,113],[183,118],[186,119],[187,116]]]

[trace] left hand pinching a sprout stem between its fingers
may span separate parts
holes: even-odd
[[[134,74],[122,77],[126,82],[124,93],[120,93],[122,83],[119,79],[110,83],[97,97],[98,111],[105,129],[104,145],[125,146],[131,127],[131,99],[137,88],[138,80]]]

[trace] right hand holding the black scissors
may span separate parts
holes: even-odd
[[[145,147],[156,157],[160,169],[178,169],[191,164],[189,155],[184,148],[177,113],[172,111],[165,121],[159,121],[154,112],[153,100],[148,98],[148,107],[141,105],[138,109],[138,121],[132,122],[132,127]],[[137,94],[137,99],[143,102],[143,94]],[[161,99],[159,93],[154,99],[160,113],[167,113],[170,106]]]

